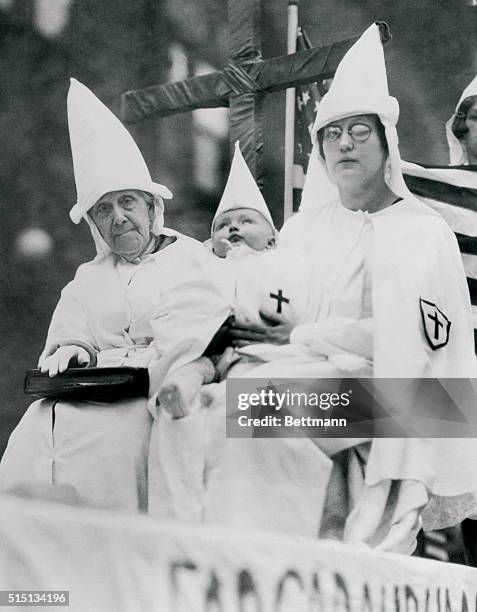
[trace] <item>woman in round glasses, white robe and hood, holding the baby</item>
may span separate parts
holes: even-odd
[[[279,322],[232,328],[236,346],[258,344],[248,354],[270,362],[244,376],[346,377],[336,360],[343,354],[361,360],[362,375],[376,378],[475,376],[457,243],[439,215],[404,184],[397,117],[373,25],[342,60],[320,104],[301,212],[280,236],[278,248],[299,245],[309,254],[315,282],[308,315],[293,329]],[[267,355],[267,343],[281,346]],[[429,492],[436,492],[431,443],[345,441],[340,452],[328,449],[331,465],[320,441],[227,439],[217,445],[217,419],[225,420],[225,413],[217,414],[208,429],[197,421],[204,427],[205,459],[183,483],[198,493],[191,501],[187,486],[182,495],[180,486],[171,492],[166,476],[167,499],[161,502],[159,486],[159,513],[412,550],[419,514]],[[185,428],[176,426],[179,435]],[[163,439],[171,428],[166,431]],[[204,444],[181,456],[204,455]],[[472,490],[465,475],[458,482],[437,480],[446,499]]]

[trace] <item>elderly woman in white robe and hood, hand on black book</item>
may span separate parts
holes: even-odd
[[[39,367],[50,376],[96,362],[147,368],[151,318],[177,279],[190,279],[190,297],[200,302],[190,318],[213,318],[209,258],[200,243],[163,227],[163,198],[171,193],[151,180],[118,119],[74,79],[68,120],[78,195],[70,216],[86,220],[97,255],[63,289]],[[86,505],[145,511],[151,423],[145,397],[36,401],[11,435],[0,487],[67,487]]]

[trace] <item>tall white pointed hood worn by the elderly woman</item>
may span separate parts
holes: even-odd
[[[160,233],[163,225],[161,198],[171,198],[171,192],[164,185],[152,181],[146,162],[131,134],[76,79],[70,80],[68,127],[77,194],[77,202],[70,211],[73,223],[79,223],[82,218],[88,220],[88,210],[105,193],[140,189],[159,197],[160,206],[156,207],[153,232]],[[98,236],[93,231],[98,254],[104,254],[106,244],[100,236],[98,243]]]

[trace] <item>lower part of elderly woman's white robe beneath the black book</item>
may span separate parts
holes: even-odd
[[[10,436],[0,491],[67,486],[84,505],[145,512],[151,424],[145,398],[38,400]]]

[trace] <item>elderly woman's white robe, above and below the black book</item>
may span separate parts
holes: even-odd
[[[151,319],[178,282],[188,280],[200,316],[216,308],[217,288],[208,280],[214,258],[192,238],[164,233],[177,240],[137,265],[112,254],[81,265],[62,291],[46,348],[80,340],[99,351],[99,366],[147,367],[154,353]],[[146,510],[151,423],[146,398],[36,401],[12,433],[0,488],[69,486],[89,505]]]

